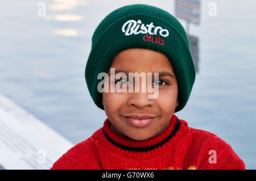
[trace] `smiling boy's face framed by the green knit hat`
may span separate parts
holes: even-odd
[[[152,85],[158,86],[158,96],[155,99],[148,98],[148,94],[152,94],[148,90],[141,91],[143,85],[141,78],[139,79],[141,92],[102,93],[102,104],[113,131],[121,137],[129,137],[133,140],[146,140],[162,133],[168,127],[179,104],[177,80],[168,58],[154,50],[127,49],[115,56],[110,68],[115,69],[115,74],[118,71],[126,73],[127,81],[120,82],[115,77],[113,80],[109,78],[109,81],[104,82],[104,84],[109,83],[109,87],[115,81],[117,81],[115,85],[123,83],[129,87],[128,73],[146,73],[146,75],[159,73],[159,81],[154,81],[152,76]]]

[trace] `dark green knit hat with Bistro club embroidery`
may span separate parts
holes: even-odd
[[[93,33],[85,79],[94,103],[104,110],[102,93],[97,90],[98,83],[102,81],[97,79],[98,74],[107,73],[114,57],[130,48],[152,49],[169,58],[179,91],[179,106],[175,112],[182,110],[196,76],[187,33],[169,12],[141,4],[112,11]]]

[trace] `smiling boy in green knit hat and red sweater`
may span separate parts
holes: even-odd
[[[147,77],[134,83],[131,73]],[[184,28],[168,12],[129,5],[106,16],[92,37],[85,79],[108,118],[51,169],[245,169],[225,141],[174,114],[188,101],[195,66]],[[146,80],[153,91],[141,91]]]

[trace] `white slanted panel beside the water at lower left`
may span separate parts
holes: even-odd
[[[44,170],[73,144],[0,94],[0,169]]]

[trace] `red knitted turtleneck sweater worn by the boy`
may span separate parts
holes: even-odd
[[[164,132],[144,141],[119,137],[106,119],[51,169],[245,169],[245,163],[221,138],[173,115]]]

